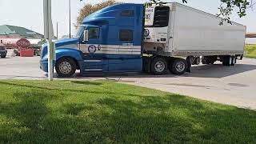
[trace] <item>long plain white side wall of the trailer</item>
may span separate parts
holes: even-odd
[[[243,54],[246,26],[175,3],[173,55]]]

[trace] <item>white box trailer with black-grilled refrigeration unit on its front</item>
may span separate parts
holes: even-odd
[[[246,26],[219,23],[222,18],[177,2],[145,12],[144,50],[164,57],[189,57],[191,64],[233,66],[244,54]],[[202,57],[201,57],[202,56]]]

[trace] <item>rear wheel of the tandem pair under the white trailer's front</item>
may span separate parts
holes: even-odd
[[[170,66],[169,66],[170,72],[172,74],[178,74],[178,75],[184,74],[187,68],[188,68],[188,63],[186,62],[185,59],[182,59],[182,58],[175,58],[174,62],[170,62]]]

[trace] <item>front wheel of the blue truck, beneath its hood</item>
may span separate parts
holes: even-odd
[[[61,58],[56,62],[55,70],[59,77],[71,77],[77,67],[73,58]]]

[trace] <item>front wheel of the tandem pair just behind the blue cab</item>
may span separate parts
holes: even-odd
[[[155,75],[167,73],[167,62],[165,58],[154,58],[150,63],[150,72]]]

